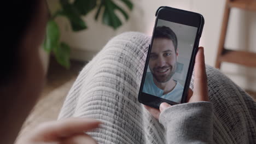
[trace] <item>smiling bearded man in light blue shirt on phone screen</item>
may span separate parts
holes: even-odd
[[[171,28],[156,27],[143,92],[181,103],[183,86],[173,80],[177,68],[177,37]]]

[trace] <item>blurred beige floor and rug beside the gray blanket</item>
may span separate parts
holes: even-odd
[[[63,101],[84,65],[85,63],[73,61],[71,69],[66,70],[55,61],[51,61],[48,71],[48,82],[37,105],[24,123],[20,136],[26,134],[39,123],[57,119]],[[247,92],[256,100],[256,92]]]

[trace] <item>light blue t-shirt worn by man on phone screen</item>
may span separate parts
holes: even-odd
[[[183,89],[184,87],[177,82],[176,86],[172,89],[171,92],[163,95],[164,90],[158,88],[155,85],[152,73],[147,72],[142,92],[155,95],[163,99],[171,100],[176,103],[181,103]]]

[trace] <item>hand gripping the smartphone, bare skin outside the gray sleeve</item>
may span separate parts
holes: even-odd
[[[195,59],[195,77],[194,77],[194,92],[189,91],[188,93],[188,103],[193,103],[197,101],[209,101],[208,99],[208,87],[207,87],[207,76],[205,71],[205,56],[203,55],[203,47],[199,47]],[[171,105],[167,103],[161,103],[159,109],[144,105],[145,108],[154,116],[159,119],[159,115],[162,111],[170,107]]]

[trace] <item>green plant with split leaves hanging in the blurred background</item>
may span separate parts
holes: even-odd
[[[132,10],[133,4],[130,0],[119,0],[124,3],[129,10]],[[48,1],[48,3],[51,1]],[[90,13],[91,10],[97,9],[95,20],[99,19],[100,13],[102,15],[102,23],[108,25],[113,29],[117,29],[122,25],[121,20],[115,14],[115,11],[120,11],[126,20],[129,15],[126,11],[116,4],[113,0],[59,0],[60,8],[57,10],[50,10],[50,18],[46,26],[46,35],[43,43],[43,49],[47,53],[53,53],[56,61],[65,68],[70,67],[69,56],[70,47],[64,41],[60,40],[60,29],[55,19],[60,16],[66,17],[74,32],[83,31],[88,28],[82,17]]]

